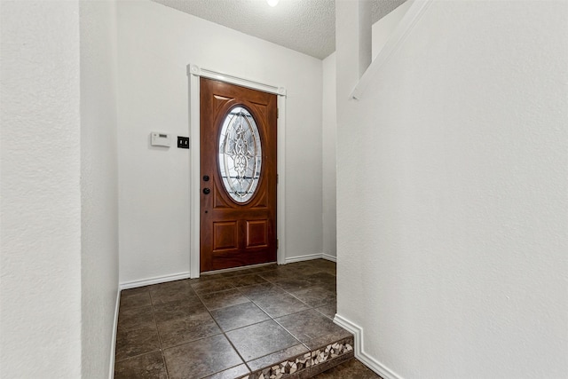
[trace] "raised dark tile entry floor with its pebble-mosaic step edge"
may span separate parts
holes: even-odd
[[[335,264],[322,259],[126,289],[114,377],[312,377],[353,356],[334,316]]]

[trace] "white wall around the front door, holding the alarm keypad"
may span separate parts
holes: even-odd
[[[287,253],[322,252],[321,60],[149,1],[118,4],[120,281],[189,271],[189,63],[286,87]]]

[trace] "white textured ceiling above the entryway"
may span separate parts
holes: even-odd
[[[335,51],[335,0],[152,0],[319,59]],[[406,0],[372,0],[373,22]]]

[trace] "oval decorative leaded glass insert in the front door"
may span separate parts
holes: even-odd
[[[250,200],[260,180],[262,146],[255,119],[244,107],[234,107],[225,116],[217,164],[223,186],[233,200]]]

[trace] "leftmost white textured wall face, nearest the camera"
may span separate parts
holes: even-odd
[[[2,2],[0,376],[81,376],[78,2]]]

